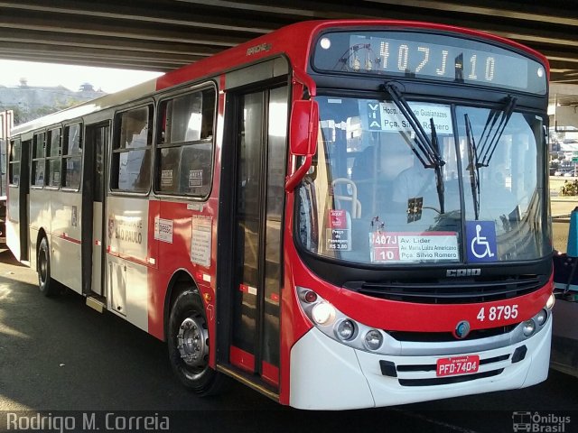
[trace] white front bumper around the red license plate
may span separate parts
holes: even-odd
[[[480,355],[480,368],[476,374],[451,376],[464,380],[452,382],[436,377],[431,367],[447,355],[373,354],[340,344],[313,327],[291,350],[289,404],[307,410],[362,409],[524,388],[547,377],[551,334],[550,317],[540,332],[516,345],[456,354]],[[515,358],[524,355],[513,363],[515,353]],[[396,373],[382,373],[380,361],[395,364]],[[430,368],[420,371],[420,365]]]

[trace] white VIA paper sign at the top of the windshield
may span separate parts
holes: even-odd
[[[359,103],[361,124],[364,130],[384,133],[412,133],[414,130],[393,102],[368,101]],[[409,102],[408,105],[426,133],[432,130],[431,119],[437,134],[453,134],[450,106]]]

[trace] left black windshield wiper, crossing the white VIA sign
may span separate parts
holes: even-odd
[[[440,213],[444,213],[444,187],[443,187],[443,161],[442,154],[440,152],[440,143],[437,139],[437,132],[435,130],[435,124],[433,123],[433,117],[430,117],[430,127],[432,129],[431,138],[425,133],[424,127],[420,124],[419,120],[415,116],[414,111],[411,109],[409,104],[407,104],[406,98],[402,95],[399,88],[395,86],[395,83],[387,82],[381,87],[387,94],[391,97],[397,109],[402,115],[406,117],[407,122],[413,128],[415,132],[415,147],[411,142],[406,143],[411,148],[412,152],[415,153],[417,159],[424,165],[426,169],[433,169],[435,171],[435,185],[437,189],[437,196],[440,200]],[[421,152],[418,152],[418,150]]]

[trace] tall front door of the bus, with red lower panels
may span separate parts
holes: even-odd
[[[288,88],[238,95],[229,363],[278,387]],[[221,188],[224,188],[221,184]],[[221,266],[223,264],[221,263]]]

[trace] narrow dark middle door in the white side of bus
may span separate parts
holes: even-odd
[[[82,189],[82,292],[104,296],[104,195],[108,123],[86,127]]]

